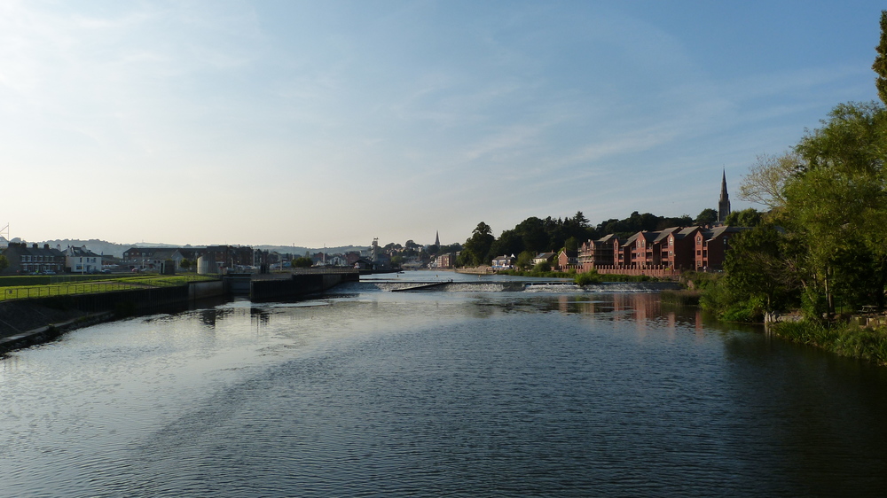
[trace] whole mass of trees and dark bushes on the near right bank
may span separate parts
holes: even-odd
[[[731,241],[725,263],[729,298],[719,303],[720,312],[726,314],[730,303],[742,303],[746,311],[756,311],[757,303],[764,311],[800,306],[813,321],[842,309],[883,307],[885,163],[887,110],[875,102],[836,105],[792,152],[758,158],[742,197],[771,211],[765,228]],[[727,222],[752,225],[757,218],[740,212]],[[718,300],[712,298],[712,306]]]

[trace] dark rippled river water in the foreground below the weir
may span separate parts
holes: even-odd
[[[887,493],[887,369],[655,293],[383,288],[8,355],[0,495]]]

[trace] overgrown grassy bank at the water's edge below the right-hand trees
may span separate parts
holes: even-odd
[[[771,331],[790,342],[887,365],[887,330],[883,328],[862,328],[849,323],[786,322],[773,323]]]

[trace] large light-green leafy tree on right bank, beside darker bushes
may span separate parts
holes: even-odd
[[[873,296],[883,306],[887,112],[875,102],[841,104],[822,124],[797,144],[804,167],[785,185],[779,219],[806,248],[808,315],[834,315],[837,306],[854,304],[853,295]],[[860,261],[867,261],[867,273],[860,274]]]

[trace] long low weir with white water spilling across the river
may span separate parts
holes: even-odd
[[[569,281],[437,282],[380,281],[341,284],[337,292],[659,292],[680,289],[676,282],[603,282],[577,285]]]

